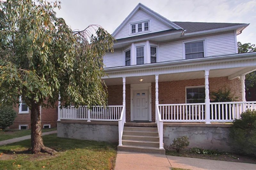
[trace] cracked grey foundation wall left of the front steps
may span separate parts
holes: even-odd
[[[84,140],[118,142],[118,126],[58,122],[57,136]]]

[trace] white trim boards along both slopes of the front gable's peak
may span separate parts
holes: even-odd
[[[115,37],[116,34],[124,27],[124,25],[132,18],[132,16],[139,10],[143,10],[145,12],[147,12],[148,14],[154,16],[155,18],[157,18],[158,20],[162,21],[163,23],[165,23],[166,25],[169,25],[173,28],[175,28],[176,30],[184,30],[182,27],[174,24],[173,22],[171,22],[170,20],[168,20],[167,18],[164,18],[162,15],[156,13],[155,11],[149,9],[148,7],[146,7],[145,5],[139,3],[133,10],[132,12],[124,19],[124,21],[120,24],[120,26],[118,26],[116,28],[116,30],[112,33],[112,36]]]

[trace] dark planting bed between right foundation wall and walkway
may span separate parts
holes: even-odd
[[[212,159],[212,160],[256,164],[256,158],[236,155],[234,153],[229,153],[229,152],[224,152],[223,154],[198,154],[194,152],[189,152],[189,150],[182,150],[180,151],[180,153],[177,153],[176,150],[166,150],[165,154],[171,155],[171,156],[181,156],[181,157],[189,157],[189,158]]]

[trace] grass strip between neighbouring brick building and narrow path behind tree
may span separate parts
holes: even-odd
[[[49,132],[57,130],[57,128],[42,129],[42,132]],[[3,129],[0,130],[0,141],[13,139],[16,137],[23,137],[30,135],[30,129],[28,130],[16,130],[16,129]]]

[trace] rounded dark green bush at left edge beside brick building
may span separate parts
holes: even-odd
[[[0,106],[0,129],[6,129],[12,125],[16,118],[16,112],[11,106]]]

